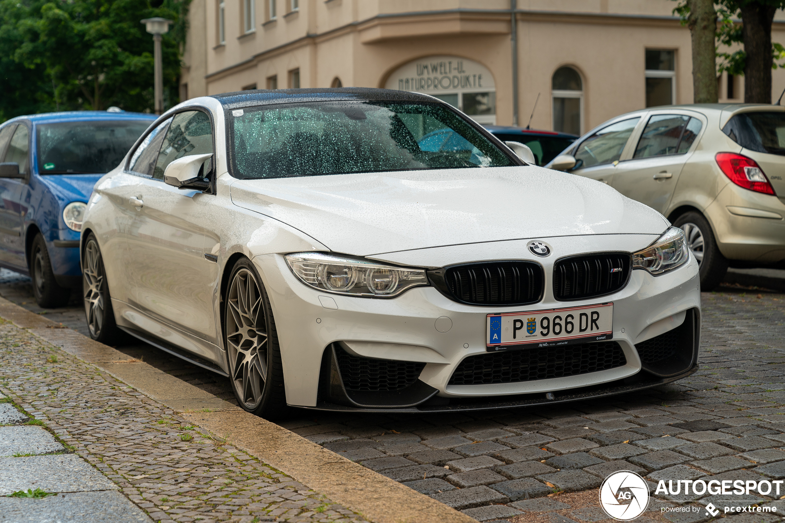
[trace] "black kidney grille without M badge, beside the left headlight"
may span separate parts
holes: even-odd
[[[473,305],[536,303],[542,296],[542,267],[525,261],[450,267],[444,282],[453,298]]]

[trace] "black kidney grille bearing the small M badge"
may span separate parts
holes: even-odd
[[[623,252],[558,260],[553,266],[553,295],[569,301],[612,294],[627,285],[630,265],[630,255]]]

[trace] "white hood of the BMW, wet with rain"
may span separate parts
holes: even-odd
[[[231,191],[235,205],[356,256],[667,227],[604,183],[533,165],[237,180]]]

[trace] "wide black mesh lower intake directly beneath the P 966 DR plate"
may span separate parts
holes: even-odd
[[[615,369],[626,363],[622,347],[615,341],[489,352],[461,361],[449,384],[489,385],[548,380]]]

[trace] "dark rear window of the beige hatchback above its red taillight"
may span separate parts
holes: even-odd
[[[722,132],[750,151],[785,156],[785,112],[736,114]]]

